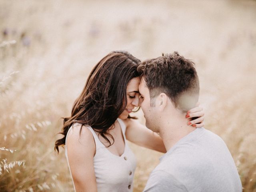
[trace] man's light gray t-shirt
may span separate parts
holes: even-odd
[[[144,192],[242,192],[242,184],[225,142],[197,128],[160,158]]]

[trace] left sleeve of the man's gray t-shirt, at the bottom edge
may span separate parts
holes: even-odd
[[[171,174],[157,170],[150,174],[143,192],[188,192],[188,190]]]

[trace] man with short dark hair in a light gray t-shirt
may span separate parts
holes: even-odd
[[[198,102],[194,63],[174,52],[142,62],[138,71],[146,126],[159,132],[167,151],[144,192],[242,192],[224,141],[204,128],[188,126],[184,118]]]

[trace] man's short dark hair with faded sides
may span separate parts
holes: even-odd
[[[199,95],[199,80],[194,62],[178,52],[143,61],[137,68],[142,73],[150,92],[151,104],[160,93],[165,93],[175,107],[183,94]]]

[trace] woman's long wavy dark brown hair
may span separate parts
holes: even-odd
[[[92,69],[84,89],[74,102],[71,116],[64,118],[62,134],[56,140],[54,150],[65,144],[68,130],[74,123],[91,126],[106,139],[111,146],[114,138],[107,130],[127,105],[126,87],[128,82],[140,76],[137,72],[140,60],[126,51],[114,51],[106,55]],[[106,137],[109,135],[113,143]]]

